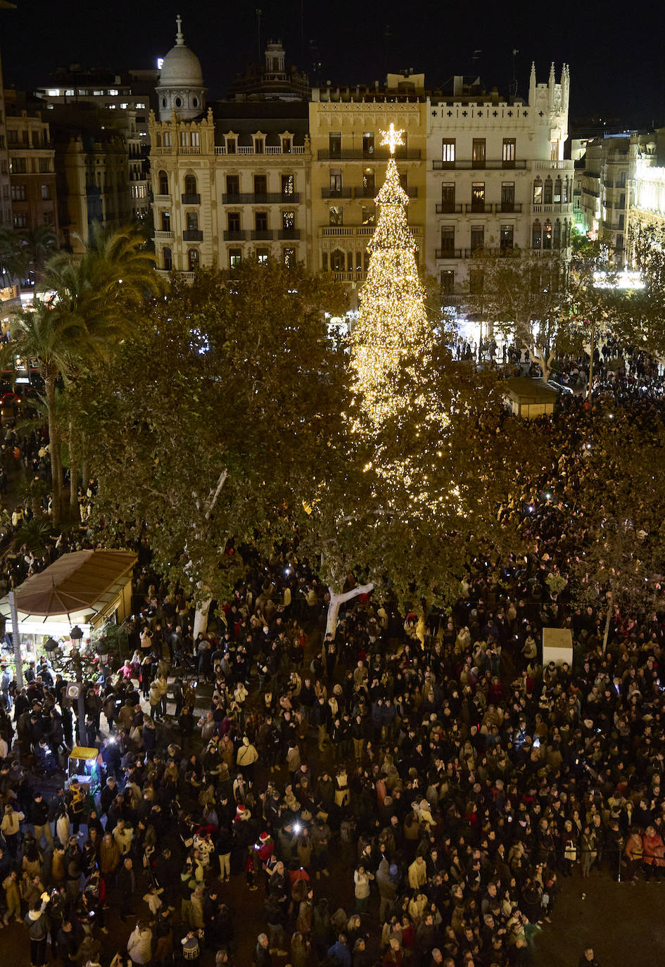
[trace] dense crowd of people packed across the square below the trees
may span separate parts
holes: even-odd
[[[610,395],[618,419],[659,418],[656,375],[630,369],[596,369],[596,412]],[[615,610],[603,650],[604,608],[550,580],[564,502],[543,494],[574,486],[584,407],[564,397],[565,459],[502,509],[537,549],[477,560],[448,611],[365,596],[322,636],[327,589],[297,549],[244,548],[194,640],[143,547],[128,658],[86,689],[95,796],[32,768],[57,779],[74,742],[66,676],[44,660],[16,692],[2,669],[0,926],[23,923],[35,967],[49,947],[104,967],[521,967],[564,878],[660,877],[665,614]],[[539,662],[546,625],[571,630],[572,663]]]

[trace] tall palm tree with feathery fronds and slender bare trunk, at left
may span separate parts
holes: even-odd
[[[37,361],[43,377],[53,480],[53,526],[62,511],[61,426],[56,383],[65,384],[95,357],[117,348],[130,326],[130,309],[157,294],[155,260],[131,227],[95,229],[83,255],[57,252],[46,262],[40,287],[52,290],[48,302],[17,314],[12,341],[15,355]],[[14,330],[13,330],[14,333]],[[71,445],[73,433],[70,434]],[[77,459],[72,456],[70,500],[76,505]]]

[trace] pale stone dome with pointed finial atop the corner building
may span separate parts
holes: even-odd
[[[176,23],[176,43],[161,62],[156,88],[159,120],[170,121],[175,114],[178,121],[193,121],[205,112],[206,89],[203,86],[201,62],[185,44],[180,14],[176,17]]]

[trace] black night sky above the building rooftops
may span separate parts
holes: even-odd
[[[175,41],[181,13],[186,43],[199,56],[209,99],[221,97],[244,65],[257,59],[255,11],[262,10],[261,48],[281,38],[287,60],[312,77],[366,83],[387,70],[424,71],[428,87],[453,73],[479,73],[486,88],[506,93],[515,58],[518,93],[526,94],[531,61],[546,80],[550,61],[571,73],[571,116],[620,118],[626,126],[665,122],[665,5],[635,0],[512,4],[476,0],[14,0],[0,11],[5,83],[45,84],[58,66],[150,68]],[[303,18],[301,17],[303,12]],[[312,50],[314,56],[312,56]]]

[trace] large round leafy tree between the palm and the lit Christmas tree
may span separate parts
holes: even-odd
[[[80,412],[98,517],[119,540],[150,536],[159,569],[194,595],[197,631],[239,576],[231,545],[293,536],[346,394],[324,318],[336,284],[277,261],[234,276],[174,278]]]

